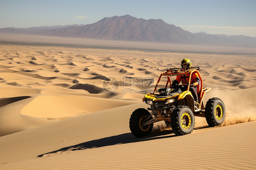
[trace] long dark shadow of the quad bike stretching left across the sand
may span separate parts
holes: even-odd
[[[48,152],[42,155],[38,155],[37,157],[42,157],[43,155],[54,154],[57,152],[65,152],[70,150],[86,150],[91,148],[99,148],[104,146],[111,146],[111,145],[119,145],[119,144],[127,144],[127,143],[135,143],[135,142],[142,142],[148,140],[156,140],[156,139],[164,139],[174,137],[174,133],[172,130],[163,130],[163,131],[153,131],[150,135],[142,138],[136,138],[131,133],[125,133],[116,136],[110,136],[98,140],[91,140],[81,144],[68,146],[61,148],[59,150],[55,150],[52,152]]]

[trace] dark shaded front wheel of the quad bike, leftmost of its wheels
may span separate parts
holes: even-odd
[[[153,124],[143,124],[151,119],[153,118],[148,110],[143,108],[134,110],[129,122],[132,134],[138,138],[150,134],[153,129]]]

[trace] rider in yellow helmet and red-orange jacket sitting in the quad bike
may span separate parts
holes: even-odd
[[[184,69],[190,69],[191,68],[191,61],[189,59],[183,59],[180,63],[181,67]],[[182,85],[179,85],[180,81],[182,82]],[[188,89],[188,85],[190,84],[189,91],[193,95],[193,98],[195,102],[199,102],[198,100],[198,93],[200,91],[200,85],[201,81],[196,72],[193,72],[191,75],[191,80],[189,81],[189,73],[186,75],[177,75],[176,80],[173,81],[172,86],[178,86],[180,90],[185,91]]]

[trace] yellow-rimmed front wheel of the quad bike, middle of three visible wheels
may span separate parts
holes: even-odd
[[[195,117],[188,106],[178,106],[171,114],[171,127],[175,135],[190,134],[194,126]]]

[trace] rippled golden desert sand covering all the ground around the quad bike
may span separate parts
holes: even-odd
[[[0,169],[256,168],[256,54],[127,48],[0,45]],[[154,87],[144,85],[189,58],[200,66],[204,103],[226,107],[220,127],[195,117],[175,136],[164,123],[135,138],[129,117]],[[137,85],[134,79],[137,79]],[[104,80],[118,80],[113,93]],[[114,80],[113,79],[113,80]],[[130,81],[133,81],[132,83]],[[141,81],[140,81],[141,80]],[[131,83],[131,84],[129,84]],[[104,90],[105,88],[105,90]]]

